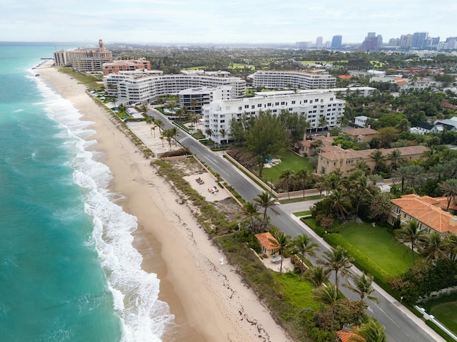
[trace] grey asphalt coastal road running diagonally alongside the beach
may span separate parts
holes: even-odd
[[[162,115],[157,110],[154,110],[154,117],[161,118],[165,123],[165,128],[174,127],[170,123],[165,115]],[[263,192],[261,187],[258,187],[255,183],[243,175],[236,167],[233,167],[228,160],[225,160],[219,153],[212,152],[208,147],[202,145],[194,138],[189,137],[187,133],[184,133],[179,129],[178,141],[184,147],[199,157],[208,167],[214,172],[219,173],[221,177],[231,185],[244,199],[251,201],[258,194]],[[323,241],[321,237],[318,237],[312,229],[307,227],[303,222],[298,219],[294,219],[290,212],[286,212],[281,205],[276,205],[274,208],[278,214],[273,213],[271,210],[268,214],[271,217],[271,224],[281,228],[286,234],[290,234],[291,237],[296,237],[298,234],[306,232],[310,237],[313,237],[315,242],[318,243],[319,248],[322,251],[330,250],[331,247]],[[361,272],[353,267],[353,271],[360,274]],[[342,283],[344,281],[341,281]],[[408,311],[402,306],[396,299],[393,299],[378,285],[374,284],[376,289],[376,296],[381,300],[381,304],[374,304],[369,302],[368,314],[376,317],[378,321],[386,327],[386,335],[388,341],[392,342],[436,342],[444,341],[443,338],[438,336],[431,328],[426,326],[420,318],[414,316],[411,311]],[[343,294],[350,299],[358,299],[353,291],[341,287]]]

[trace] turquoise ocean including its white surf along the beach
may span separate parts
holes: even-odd
[[[56,43],[0,43],[0,341],[161,341],[174,316],[141,269],[91,123],[32,69]]]

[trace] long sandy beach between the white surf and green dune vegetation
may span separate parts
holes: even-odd
[[[123,195],[118,204],[137,217],[134,247],[142,267],[161,281],[159,299],[170,306],[174,323],[163,341],[289,341],[255,294],[211,244],[186,204],[156,174],[151,160],[115,127],[109,114],[76,80],[45,63],[40,77],[84,115],[97,141],[94,150],[113,173],[110,190]],[[189,180],[191,182],[191,180]]]

